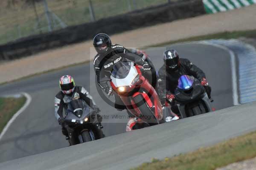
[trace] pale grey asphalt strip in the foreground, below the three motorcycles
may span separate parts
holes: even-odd
[[[0,164],[2,170],[125,170],[256,129],[256,102]],[[242,113],[242,116],[241,116]]]

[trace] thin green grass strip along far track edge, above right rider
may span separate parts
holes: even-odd
[[[148,45],[145,48],[148,47],[163,47],[165,45],[169,44],[175,44],[179,42],[191,42],[191,41],[200,41],[200,40],[210,40],[210,39],[236,39],[239,37],[247,37],[247,38],[255,38],[256,39],[256,30],[247,30],[247,31],[226,31],[226,32],[221,32],[217,34],[208,34],[208,35],[202,35],[198,37],[190,37],[186,39],[180,39],[180,40],[175,40],[175,41],[168,41],[160,44],[153,44],[153,45]]]

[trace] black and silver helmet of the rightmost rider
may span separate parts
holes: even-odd
[[[179,55],[176,50],[170,49],[163,52],[163,61],[166,67],[176,70],[180,66]]]

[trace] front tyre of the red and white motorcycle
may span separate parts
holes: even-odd
[[[145,122],[148,122],[149,125],[157,125],[158,121],[154,115],[154,113],[152,113],[151,109],[149,108],[147,102],[145,101],[145,99],[143,98],[142,95],[137,95],[134,97],[134,102],[136,103],[136,105],[138,106],[138,108],[140,109],[141,113],[143,114],[143,117],[145,119],[143,119]]]

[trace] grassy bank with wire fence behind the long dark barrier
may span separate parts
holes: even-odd
[[[1,0],[0,44],[178,0]]]

